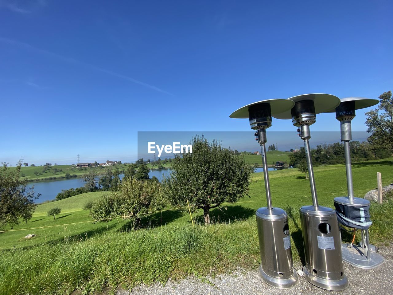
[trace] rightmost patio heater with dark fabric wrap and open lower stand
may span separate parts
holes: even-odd
[[[379,100],[360,97],[342,98],[340,105],[331,112],[336,112],[336,119],[340,121],[341,141],[344,145],[345,169],[347,172],[348,195],[335,197],[337,219],[340,225],[361,230],[360,245],[353,243],[342,244],[342,256],[345,262],[356,267],[371,269],[384,263],[385,259],[375,251],[375,246],[369,244],[369,227],[372,224],[369,214],[370,202],[353,195],[351,151],[349,141],[352,140],[351,121],[355,117],[355,110],[376,105]],[[353,233],[354,234],[354,233]]]

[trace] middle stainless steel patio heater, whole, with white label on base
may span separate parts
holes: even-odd
[[[310,125],[315,123],[316,114],[334,109],[340,99],[331,94],[303,94],[288,100],[295,102],[294,107],[273,116],[278,119],[292,119],[294,126],[299,127],[299,137],[304,141],[312,196],[312,206],[300,208],[306,258],[304,277],[320,288],[343,290],[348,286],[348,279],[343,269],[341,234],[336,212],[332,208],[318,205],[309,144]]]

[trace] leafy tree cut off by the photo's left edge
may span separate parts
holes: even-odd
[[[19,162],[15,170],[9,170],[6,163],[0,169],[0,228],[20,223],[20,219],[28,221],[35,210],[34,201],[41,194],[35,195],[34,186],[26,188],[27,179],[20,178]]]

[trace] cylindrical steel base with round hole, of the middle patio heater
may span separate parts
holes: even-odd
[[[301,229],[306,265],[303,273],[311,284],[340,291],[348,286],[344,274],[341,234],[336,212],[332,208],[303,206],[300,208]]]

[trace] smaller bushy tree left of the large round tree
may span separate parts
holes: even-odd
[[[122,181],[119,194],[103,195],[94,203],[91,216],[100,222],[108,222],[122,216],[123,219],[130,219],[136,227],[141,217],[151,215],[164,205],[159,183],[127,178]]]

